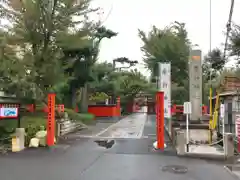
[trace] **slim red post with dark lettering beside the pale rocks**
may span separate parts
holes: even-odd
[[[47,145],[54,145],[55,138],[55,94],[48,94]]]

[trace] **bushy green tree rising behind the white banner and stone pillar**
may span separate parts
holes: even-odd
[[[141,48],[144,62],[152,76],[158,76],[158,62],[171,62],[172,82],[183,85],[183,80],[188,78],[190,48],[185,24],[176,22],[165,29],[153,26],[148,34],[139,30],[139,37],[144,43]]]

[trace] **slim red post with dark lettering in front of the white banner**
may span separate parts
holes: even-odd
[[[156,95],[157,148],[164,149],[164,92]]]

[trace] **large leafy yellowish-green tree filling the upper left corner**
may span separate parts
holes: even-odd
[[[91,36],[92,23],[87,16],[96,11],[89,8],[90,0],[78,2],[25,0],[6,1],[0,6],[1,18],[12,25],[7,31],[0,29],[0,62],[4,64],[0,74],[4,90],[43,101],[53,86],[66,80],[64,70],[72,62],[62,63],[63,44],[72,45],[71,48],[88,46],[89,41],[83,37]],[[84,24],[88,24],[86,30],[79,28]],[[73,39],[78,41],[70,41]]]

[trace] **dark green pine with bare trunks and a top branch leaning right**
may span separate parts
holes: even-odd
[[[90,42],[87,47],[83,48],[81,46],[76,46],[75,48],[63,48],[64,62],[67,61],[71,64],[71,66],[65,70],[65,74],[71,76],[69,81],[69,93],[71,94],[71,99],[74,100],[76,99],[77,90],[82,88],[82,111],[87,111],[88,102],[86,97],[88,96],[88,83],[94,81],[93,65],[97,61],[100,42],[104,38],[112,38],[116,35],[117,33],[107,29],[106,27],[99,27],[91,33],[90,39],[84,38],[86,41]],[[76,38],[77,37],[74,39]],[[76,103],[76,101],[71,102],[72,108],[74,108]]]

